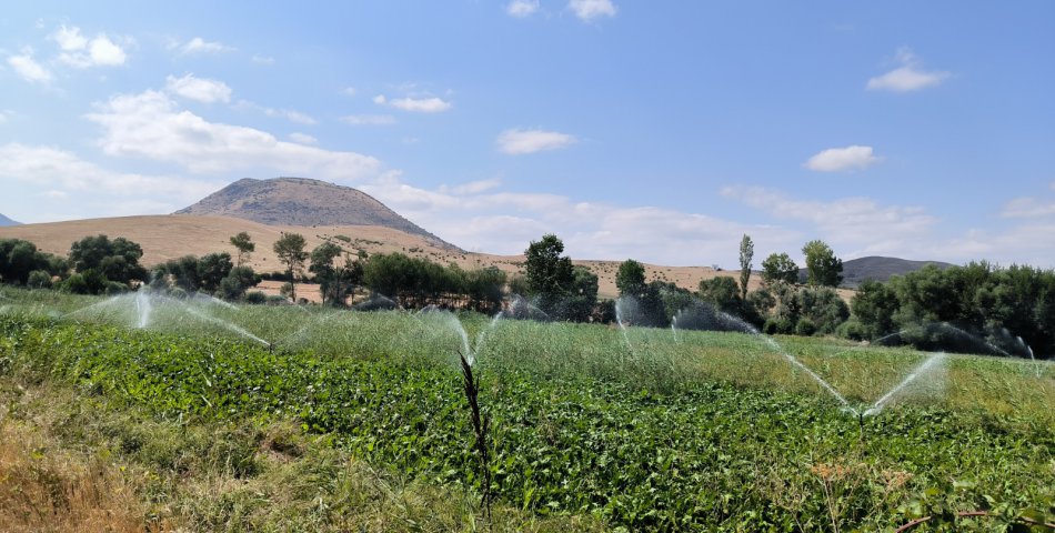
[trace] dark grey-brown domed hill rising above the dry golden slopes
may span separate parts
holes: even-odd
[[[232,217],[268,225],[379,225],[461,250],[360,190],[304,178],[245,178],[174,214]]]

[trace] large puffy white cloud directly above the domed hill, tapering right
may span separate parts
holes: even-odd
[[[159,91],[112,97],[86,118],[102,127],[99,145],[107,154],[174,163],[195,173],[260,170],[352,182],[381,169],[381,162],[369,155],[305,147],[257,129],[209,122],[179,109]]]

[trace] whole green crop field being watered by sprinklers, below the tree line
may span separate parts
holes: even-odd
[[[481,376],[495,503],[539,520],[892,531],[933,516],[912,531],[1045,531],[1036,523],[1055,516],[1046,362],[439,312],[0,292],[6,379],[68,385],[157,421],[292,422],[373,467],[474,494],[459,353],[475,356]],[[988,515],[956,516],[967,511]],[[257,529],[282,529],[272,526]]]

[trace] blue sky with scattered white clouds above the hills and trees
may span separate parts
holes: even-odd
[[[468,250],[1055,266],[1055,3],[19,2],[0,213],[351,185]]]

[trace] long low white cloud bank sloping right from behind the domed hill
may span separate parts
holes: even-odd
[[[660,264],[734,264],[741,235],[776,249],[797,232],[742,224],[654,207],[580,202],[537,192],[498,190],[498,180],[426,190],[390,173],[360,189],[441,238],[469,250],[523,253],[531,240],[556,233],[576,259],[635,258]]]

